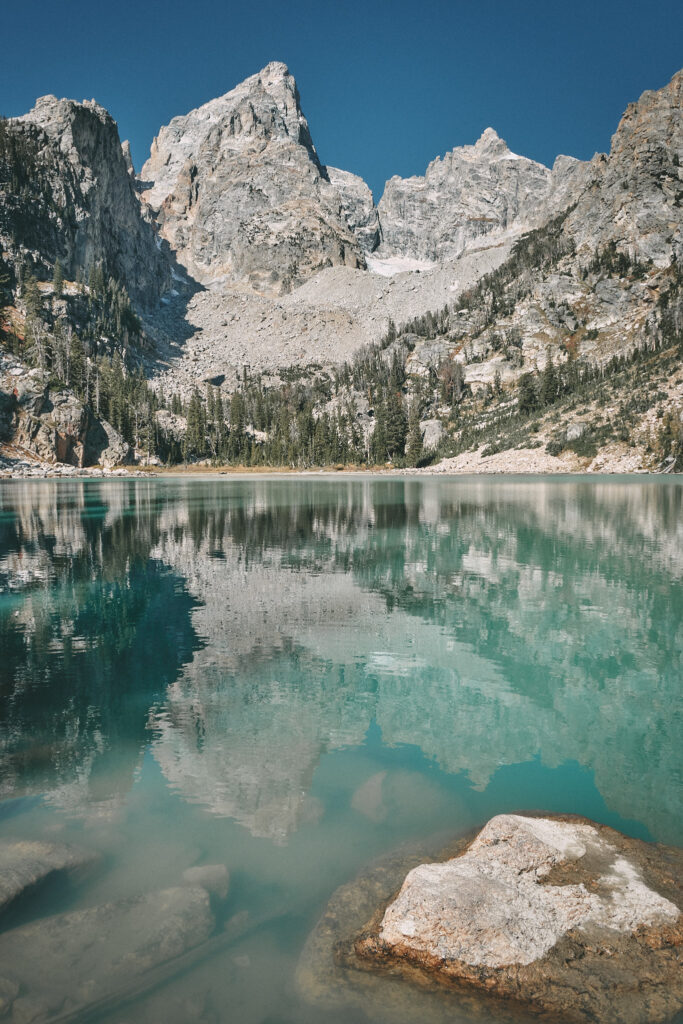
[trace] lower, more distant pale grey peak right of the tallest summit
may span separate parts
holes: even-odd
[[[511,153],[493,128],[437,157],[424,177],[393,177],[379,203],[378,255],[444,260],[492,231],[530,223],[548,195],[547,167]]]

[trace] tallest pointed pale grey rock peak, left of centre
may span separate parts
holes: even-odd
[[[279,294],[325,266],[365,265],[283,63],[162,128],[141,182],[199,281]]]

